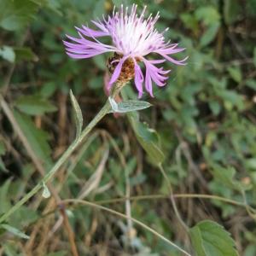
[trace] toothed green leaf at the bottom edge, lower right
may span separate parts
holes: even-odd
[[[212,220],[204,220],[189,230],[197,256],[238,256],[230,233]]]

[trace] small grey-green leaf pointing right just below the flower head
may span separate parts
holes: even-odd
[[[149,102],[143,101],[125,101],[117,103],[117,108],[111,112],[127,113],[131,111],[143,110],[149,108],[152,105]]]

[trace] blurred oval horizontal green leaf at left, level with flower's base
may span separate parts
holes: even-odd
[[[57,110],[52,103],[39,95],[21,96],[15,102],[15,105],[23,113],[31,115],[41,115],[44,113],[55,112]]]

